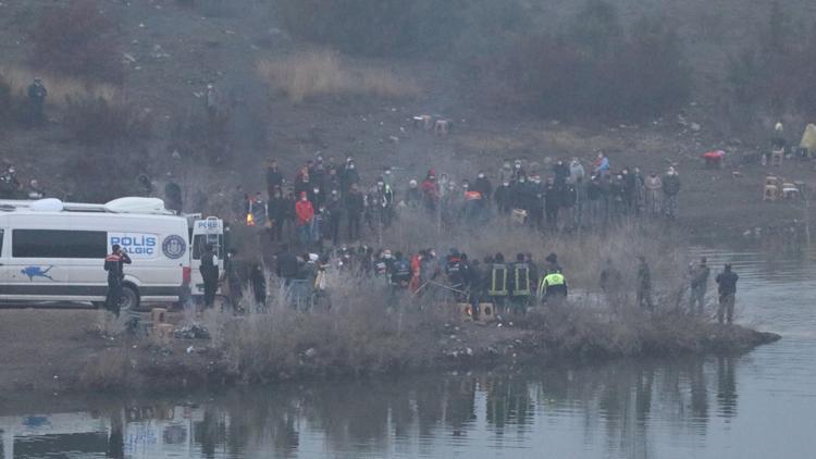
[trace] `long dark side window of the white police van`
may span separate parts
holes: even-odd
[[[13,258],[96,258],[108,255],[103,231],[13,230]]]

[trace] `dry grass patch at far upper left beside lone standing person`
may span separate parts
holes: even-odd
[[[0,66],[0,77],[11,86],[14,97],[25,98],[32,79],[38,76],[48,89],[46,102],[51,107],[64,108],[69,99],[104,99],[108,102],[119,101],[121,91],[110,84],[88,83],[79,78],[61,76],[39,71],[33,71],[23,66]]]

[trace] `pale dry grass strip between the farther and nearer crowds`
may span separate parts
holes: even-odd
[[[606,232],[542,234],[502,219],[494,219],[487,225],[454,224],[440,228],[423,210],[404,209],[399,218],[405,222],[423,223],[395,224],[383,235],[383,247],[404,253],[433,247],[438,257],[456,248],[468,253],[471,260],[502,252],[508,262],[519,252],[530,252],[541,268],[549,253],[556,253],[570,285],[584,290],[598,288],[601,271],[610,259],[623,275],[626,285],[634,291],[638,257],[644,256],[655,290],[676,291],[685,284],[684,275],[691,261],[683,250],[683,237],[659,223],[630,221],[610,226]]]

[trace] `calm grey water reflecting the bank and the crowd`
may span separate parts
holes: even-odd
[[[816,457],[814,255],[697,253],[734,264],[739,322],[781,342],[731,358],[0,405],[0,459]]]

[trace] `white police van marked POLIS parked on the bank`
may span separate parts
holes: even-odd
[[[101,303],[104,257],[118,244],[133,260],[123,309],[177,302],[190,281],[189,237],[187,219],[157,198],[0,200],[0,301]]]

